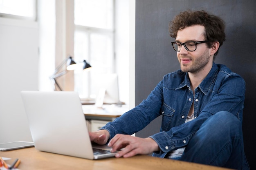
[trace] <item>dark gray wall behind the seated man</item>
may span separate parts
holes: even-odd
[[[255,0],[136,0],[135,104],[153,90],[162,77],[180,69],[171,46],[168,23],[180,11],[206,10],[226,22],[226,39],[216,63],[227,65],[246,81],[243,117],[245,152],[251,169],[256,169],[256,1]],[[159,117],[138,132],[148,137],[159,132]]]

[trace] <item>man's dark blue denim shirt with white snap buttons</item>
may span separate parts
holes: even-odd
[[[243,78],[225,65],[213,63],[207,77],[195,88],[195,94],[188,73],[169,73],[141,104],[101,129],[108,130],[110,139],[118,133],[131,135],[162,115],[160,132],[150,137],[160,148],[153,156],[164,157],[171,150],[186,146],[202,123],[219,111],[232,113],[242,126],[244,100]],[[185,124],[192,103],[195,119]]]

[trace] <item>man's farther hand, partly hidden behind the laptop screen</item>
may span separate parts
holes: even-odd
[[[91,141],[100,145],[106,144],[110,137],[108,130],[98,130],[97,132],[89,132],[89,136]]]

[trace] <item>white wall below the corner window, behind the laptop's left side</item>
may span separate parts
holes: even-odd
[[[38,25],[0,18],[0,143],[32,141],[20,91],[38,90]]]

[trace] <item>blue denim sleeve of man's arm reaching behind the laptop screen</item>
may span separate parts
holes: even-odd
[[[161,81],[141,104],[114,121],[109,122],[101,129],[108,130],[110,139],[116,134],[132,135],[145,128],[151,121],[161,115],[159,110],[162,108],[162,104],[163,91]]]

